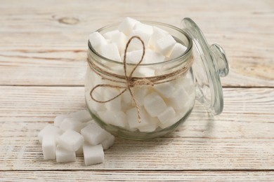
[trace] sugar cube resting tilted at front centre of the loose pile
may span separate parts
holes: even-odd
[[[64,132],[58,140],[58,144],[65,148],[67,151],[77,151],[80,146],[84,143],[84,137],[78,132],[73,130],[67,130]]]

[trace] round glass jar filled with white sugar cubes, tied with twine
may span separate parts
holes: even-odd
[[[141,38],[145,52],[133,36]],[[185,31],[159,22],[125,18],[93,32],[85,80],[86,105],[93,118],[127,139],[174,131],[195,104],[192,48]]]

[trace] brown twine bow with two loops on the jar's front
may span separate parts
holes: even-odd
[[[129,76],[127,76],[127,70],[126,70],[126,52],[127,49],[129,48],[129,44],[131,43],[131,41],[133,40],[133,38],[137,38],[139,41],[141,41],[142,45],[143,45],[143,54],[142,57],[140,59],[140,61],[138,62],[138,64],[136,64],[136,66],[134,66],[133,70],[131,71],[131,73],[129,74]],[[136,70],[136,68],[141,64],[141,62],[143,62],[143,57],[145,56],[145,43],[143,43],[143,40],[139,37],[139,36],[132,36],[131,38],[129,38],[129,41],[126,43],[126,49],[124,50],[124,77],[126,80],[126,86],[119,86],[119,85],[110,85],[110,84],[99,84],[96,85],[95,87],[93,87],[93,89],[90,92],[91,95],[91,99],[93,99],[96,102],[100,102],[100,103],[106,103],[106,102],[110,102],[113,99],[116,99],[117,97],[119,97],[121,94],[123,94],[124,92],[126,92],[126,90],[129,90],[129,93],[131,94],[131,98],[133,99],[133,103],[134,106],[136,106],[136,110],[138,113],[138,123],[141,123],[141,112],[139,109],[139,106],[136,102],[136,99],[132,93],[131,87],[134,87],[136,85],[153,85],[153,83],[148,80],[148,79],[141,79],[141,80],[132,80],[132,75],[134,73],[134,71]],[[124,88],[124,90],[122,90],[122,92],[120,92],[119,94],[117,94],[117,96],[112,97],[111,99],[108,99],[106,101],[98,101],[97,99],[95,99],[93,97],[93,91],[96,90],[97,87],[113,87],[113,88]]]

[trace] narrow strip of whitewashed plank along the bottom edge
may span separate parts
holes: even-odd
[[[15,178],[16,176],[16,178]],[[274,172],[0,172],[3,181],[273,181]]]

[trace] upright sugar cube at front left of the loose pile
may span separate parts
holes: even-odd
[[[42,141],[44,160],[56,159],[56,138],[53,135],[44,135]]]

